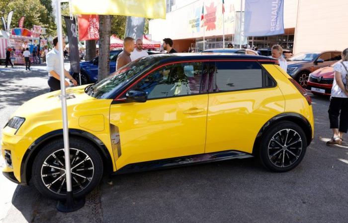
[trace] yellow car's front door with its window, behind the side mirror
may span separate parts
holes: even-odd
[[[204,153],[208,95],[201,91],[202,75],[203,62],[159,67],[128,89],[145,91],[145,103],[111,105],[111,139],[119,149],[114,151],[117,169]],[[118,100],[125,97],[126,93]]]

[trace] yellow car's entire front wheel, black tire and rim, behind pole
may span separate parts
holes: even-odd
[[[76,170],[75,172],[72,170],[74,173],[71,175],[73,193],[74,197],[81,198],[99,184],[103,173],[103,163],[95,147],[83,139],[70,138],[70,147],[71,168],[75,167],[74,170]],[[50,167],[47,167],[44,162]],[[78,165],[79,163],[81,164]],[[32,166],[33,184],[46,197],[64,200],[66,198],[64,168],[64,142],[63,139],[56,139],[45,145],[35,157]],[[50,183],[53,184],[48,186]]]

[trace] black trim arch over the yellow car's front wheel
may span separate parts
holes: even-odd
[[[35,142],[33,142],[29,148],[26,150],[21,165],[20,165],[20,180],[29,184],[31,178],[31,167],[33,165],[34,159],[39,151],[45,146],[49,141],[63,138],[63,129],[54,130],[52,132],[46,133],[45,135],[39,137]],[[104,173],[111,173],[113,171],[112,159],[109,151],[107,150],[104,143],[98,139],[93,134],[83,131],[81,129],[69,129],[69,138],[81,138],[87,140],[91,145],[93,145],[98,153],[100,154],[103,165]]]

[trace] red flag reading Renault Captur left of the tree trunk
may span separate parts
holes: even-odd
[[[78,22],[79,22],[80,41],[99,39],[98,15],[79,15]]]

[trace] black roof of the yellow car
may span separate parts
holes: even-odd
[[[148,56],[150,57],[150,56]],[[269,60],[268,56],[240,55],[240,54],[219,54],[219,53],[177,53],[177,54],[155,54],[151,55],[157,62],[172,62],[182,60],[205,60],[205,59],[246,59],[246,60]]]

